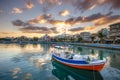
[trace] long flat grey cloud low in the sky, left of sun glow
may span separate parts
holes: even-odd
[[[24,27],[20,28],[20,31],[24,33],[58,33],[56,28],[47,28],[47,27],[38,27],[38,26],[29,26],[29,27]]]

